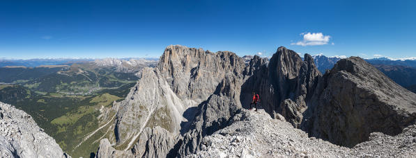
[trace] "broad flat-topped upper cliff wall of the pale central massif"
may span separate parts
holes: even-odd
[[[168,46],[157,69],[183,100],[201,103],[214,93],[226,73],[242,76],[245,62],[235,53],[211,53],[186,46]]]

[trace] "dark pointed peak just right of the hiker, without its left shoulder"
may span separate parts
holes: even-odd
[[[302,112],[307,108],[307,99],[317,85],[321,73],[316,69],[313,59],[305,54],[305,61],[295,51],[280,46],[268,64],[268,82],[257,91],[262,91],[261,105],[266,112],[282,114],[287,121],[298,127]],[[264,76],[264,74],[262,74]],[[271,91],[268,86],[271,86]],[[309,93],[308,93],[309,92]]]

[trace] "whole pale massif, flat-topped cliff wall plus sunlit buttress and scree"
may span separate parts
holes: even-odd
[[[137,85],[132,87],[125,100],[114,106],[118,108],[114,123],[116,141],[102,141],[102,148],[108,148],[108,145],[112,144],[115,148],[129,150],[134,146],[132,150],[134,152],[128,152],[127,155],[166,157],[164,153],[169,153],[174,146],[171,146],[172,143],[165,142],[174,142],[174,144],[181,142],[180,132],[184,134],[192,123],[197,122],[194,121],[194,116],[197,116],[194,113],[195,108],[198,108],[195,106],[201,107],[209,103],[210,100],[220,96],[221,91],[233,91],[233,93],[226,92],[230,98],[229,102],[223,104],[227,107],[230,106],[229,104],[238,104],[238,106],[232,106],[233,109],[241,107],[238,102],[240,100],[239,89],[245,78],[245,72],[245,61],[235,53],[227,51],[211,53],[185,46],[168,46],[157,67],[143,69],[139,73],[140,80]],[[229,82],[234,84],[232,88],[221,88],[227,87]],[[217,104],[221,103],[222,99],[217,98],[217,101],[212,102],[213,106],[218,107]],[[188,109],[187,112],[185,112],[186,109]],[[217,112],[222,112],[222,110],[218,109]],[[208,115],[211,114],[214,115],[213,112],[208,112]],[[231,117],[231,114],[219,115],[224,115],[225,119]],[[217,116],[212,116],[212,118],[217,119]],[[203,121],[207,120],[203,119]],[[208,123],[211,122],[213,121],[208,120]],[[148,133],[148,130],[155,131],[155,127],[159,127],[156,131],[166,130],[164,133],[167,137],[160,137],[157,141],[149,139],[157,138],[154,132]],[[141,152],[149,146],[165,146],[166,148]],[[116,151],[114,153],[126,155],[126,152]],[[99,152],[100,155],[108,156],[105,152],[100,150]],[[114,156],[116,155],[111,157]]]

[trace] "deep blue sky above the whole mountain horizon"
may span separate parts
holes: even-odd
[[[414,1],[0,1],[0,58],[159,57],[170,44],[272,55],[416,56]]]

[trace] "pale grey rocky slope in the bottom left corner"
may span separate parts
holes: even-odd
[[[0,157],[69,157],[58,143],[13,105],[0,103]]]

